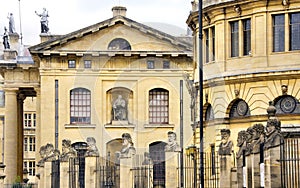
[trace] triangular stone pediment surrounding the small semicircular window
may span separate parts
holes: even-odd
[[[125,39],[131,50],[112,50],[108,46],[114,39]],[[58,36],[29,48],[31,53],[85,54],[112,51],[191,53],[192,45],[180,38],[158,31],[123,16],[115,16],[103,22]]]

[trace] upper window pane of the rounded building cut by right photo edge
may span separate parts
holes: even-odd
[[[290,15],[290,49],[300,50],[300,13]]]

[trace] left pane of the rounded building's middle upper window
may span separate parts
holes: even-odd
[[[239,22],[231,22],[231,57],[239,56]]]

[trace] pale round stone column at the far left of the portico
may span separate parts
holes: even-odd
[[[13,183],[17,177],[18,159],[18,121],[17,89],[5,89],[5,131],[4,131],[4,164],[5,183]]]

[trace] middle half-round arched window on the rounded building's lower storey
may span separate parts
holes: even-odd
[[[243,99],[238,99],[233,103],[229,117],[233,118],[243,116],[250,116],[250,110],[248,104]]]

